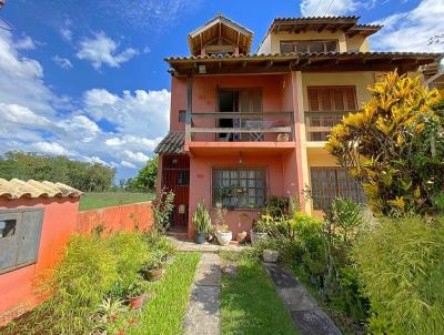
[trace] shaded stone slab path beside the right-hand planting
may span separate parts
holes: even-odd
[[[276,264],[264,265],[302,335],[341,335],[340,329],[291,273]]]

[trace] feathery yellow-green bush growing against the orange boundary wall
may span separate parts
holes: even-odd
[[[71,237],[53,276],[40,287],[51,297],[11,324],[11,334],[89,334],[98,326],[94,315],[103,300],[117,301],[139,285],[147,254],[138,232]]]

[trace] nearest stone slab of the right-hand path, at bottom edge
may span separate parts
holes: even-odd
[[[320,309],[290,313],[302,335],[341,335],[329,316]]]

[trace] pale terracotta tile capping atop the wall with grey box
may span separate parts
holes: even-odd
[[[0,197],[20,199],[20,197],[78,197],[82,194],[81,191],[75,190],[62,183],[51,183],[48,181],[38,182],[29,180],[27,182],[12,179],[7,181],[0,179]]]

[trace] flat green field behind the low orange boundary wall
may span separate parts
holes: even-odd
[[[132,193],[132,192],[85,193],[80,197],[80,211],[130,204],[153,199],[154,199],[153,193]]]

